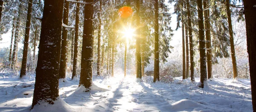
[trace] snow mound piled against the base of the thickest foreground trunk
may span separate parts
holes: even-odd
[[[54,101],[54,104],[48,102],[41,102],[40,105],[36,105],[31,112],[76,112],[72,106],[67,104],[61,98]]]

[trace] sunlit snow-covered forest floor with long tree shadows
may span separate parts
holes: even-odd
[[[42,103],[32,112],[252,112],[250,79],[213,78],[204,89],[174,78],[156,82],[150,76],[93,76],[91,92],[82,92],[79,80],[60,79],[54,105]],[[30,112],[35,75],[20,79],[0,73],[0,112]],[[100,88],[97,88],[100,87]],[[46,108],[45,108],[46,107]]]

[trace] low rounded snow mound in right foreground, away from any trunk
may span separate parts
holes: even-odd
[[[174,111],[182,111],[183,109],[205,108],[203,104],[188,99],[182,99],[171,105]]]

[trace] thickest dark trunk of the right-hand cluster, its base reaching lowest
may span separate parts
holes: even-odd
[[[204,88],[204,82],[207,81],[205,39],[204,39],[204,17],[202,0],[197,0],[198,4],[198,30],[199,30],[199,48],[200,48],[200,81],[201,88]]]

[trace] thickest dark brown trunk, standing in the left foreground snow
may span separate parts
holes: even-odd
[[[64,0],[44,0],[41,36],[36,68],[35,90],[32,109],[39,102],[48,102],[58,99],[58,48],[61,41],[62,12]]]

